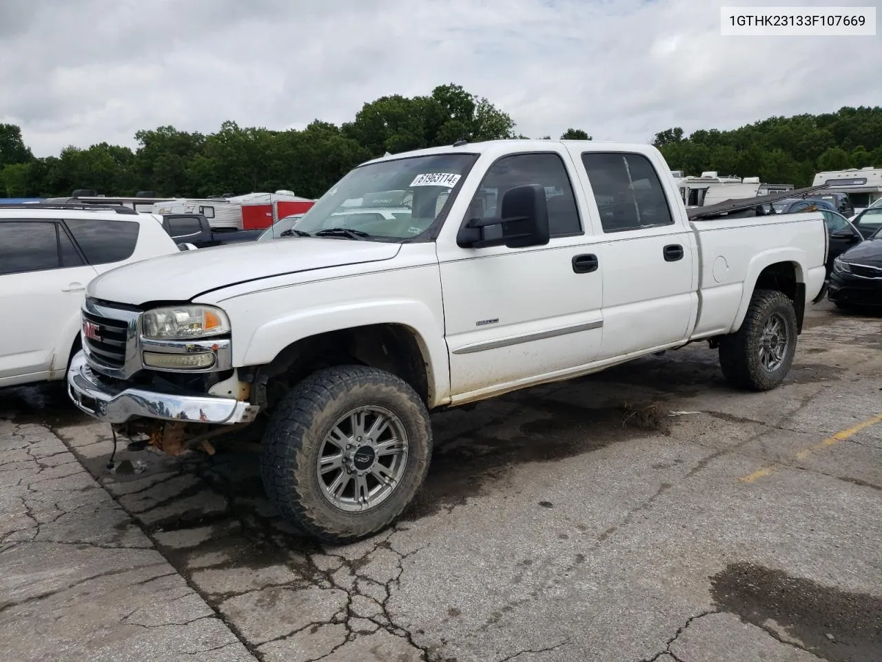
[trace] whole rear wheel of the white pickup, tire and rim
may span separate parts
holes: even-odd
[[[777,290],[756,290],[744,322],[720,341],[720,366],[731,386],[768,391],[781,385],[796,354],[796,311]]]

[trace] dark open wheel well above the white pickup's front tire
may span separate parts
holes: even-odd
[[[267,409],[299,380],[333,365],[370,365],[407,381],[427,405],[430,379],[415,333],[400,324],[374,324],[311,335],[292,342],[254,373],[258,402]]]

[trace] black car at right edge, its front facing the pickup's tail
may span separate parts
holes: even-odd
[[[882,305],[882,228],[833,260],[827,298],[840,308]]]

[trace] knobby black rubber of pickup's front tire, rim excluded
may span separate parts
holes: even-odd
[[[383,502],[363,513],[347,512],[325,497],[318,454],[340,416],[370,404],[391,410],[404,425],[407,465]],[[342,545],[394,522],[420,489],[431,450],[429,412],[406,381],[375,368],[342,365],[312,373],[276,404],[263,436],[261,478],[267,497],[289,522],[322,542]]]

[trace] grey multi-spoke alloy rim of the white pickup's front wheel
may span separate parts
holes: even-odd
[[[318,452],[318,485],[334,507],[376,508],[407,469],[407,433],[392,411],[359,407],[337,419]]]

